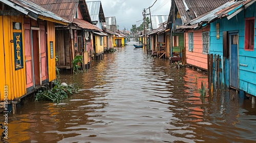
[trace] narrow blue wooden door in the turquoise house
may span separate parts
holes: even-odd
[[[238,34],[230,34],[230,86],[238,89]]]

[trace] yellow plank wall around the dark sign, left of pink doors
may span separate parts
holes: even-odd
[[[20,22],[23,26],[23,16],[0,16],[0,43],[2,45],[0,50],[0,74],[2,75],[0,82],[0,93],[1,101],[5,98],[5,93],[8,95],[8,100],[13,100],[14,98],[22,97],[26,94],[26,67],[25,67],[25,51],[24,51],[24,28],[20,30],[13,29],[13,22]],[[21,33],[22,40],[20,41],[20,49],[17,50],[17,46],[14,47],[14,42],[10,42],[15,37],[13,33]],[[17,41],[17,38],[15,38]],[[20,37],[19,37],[20,40]],[[21,62],[23,67],[15,69],[17,64],[15,64],[14,59],[17,52],[22,52],[19,56],[23,59]],[[16,53],[16,55],[15,55]],[[7,91],[7,92],[5,92]]]

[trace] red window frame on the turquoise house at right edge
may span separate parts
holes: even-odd
[[[253,21],[253,30],[250,29],[250,25],[249,23]],[[253,34],[252,37],[250,37],[250,32],[253,32],[251,34]],[[252,39],[250,39],[252,38]],[[244,50],[245,51],[254,51],[254,38],[255,38],[255,17],[248,17],[245,18],[245,34],[244,34]],[[252,45],[249,43],[250,41],[252,41]]]

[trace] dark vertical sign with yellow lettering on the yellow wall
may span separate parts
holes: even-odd
[[[13,33],[15,70],[23,68],[22,33]]]

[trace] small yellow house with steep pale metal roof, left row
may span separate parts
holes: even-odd
[[[102,5],[100,1],[86,2],[88,5],[90,17],[93,25],[98,27],[99,29],[103,29],[102,23],[105,22],[105,16],[102,9]],[[93,47],[94,47],[94,57],[95,59],[102,59],[104,55],[104,44],[106,45],[106,38],[108,34],[104,34],[102,32],[94,32],[93,33]],[[104,43],[105,39],[105,43]]]

